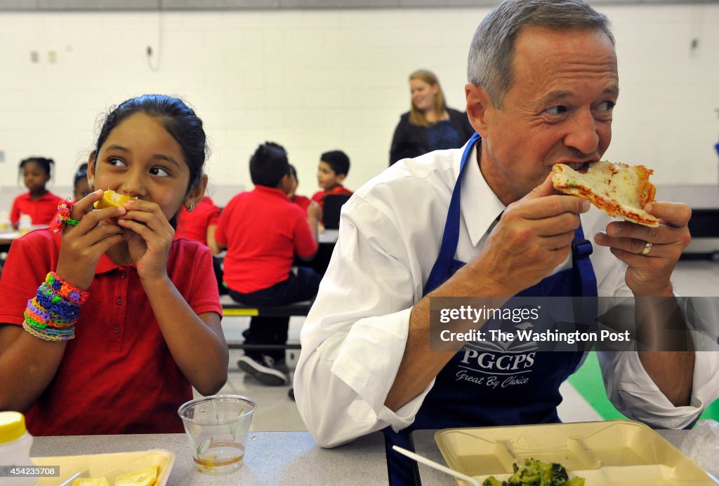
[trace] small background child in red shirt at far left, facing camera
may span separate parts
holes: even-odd
[[[20,162],[19,172],[22,182],[29,192],[21,194],[12,202],[10,222],[17,228],[20,215],[29,215],[33,225],[49,225],[62,197],[52,194],[45,188],[52,173],[52,159],[44,157],[29,157]]]

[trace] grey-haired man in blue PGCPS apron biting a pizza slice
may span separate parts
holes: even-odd
[[[619,79],[606,17],[581,0],[503,1],[477,28],[467,72],[477,134],[394,164],[342,211],[294,383],[321,446],[380,429],[409,447],[412,429],[559,421],[559,385],[585,352],[434,350],[433,298],[633,297],[647,339],[667,316],[684,325],[670,277],[690,208],[645,205],[651,228],[553,187],[555,164],[597,164],[610,144]],[[620,411],[682,428],[719,395],[718,354],[665,346],[600,353],[600,365]],[[388,461],[393,484],[412,482],[411,467]]]

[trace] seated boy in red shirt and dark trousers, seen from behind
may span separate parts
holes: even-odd
[[[313,299],[321,276],[312,268],[292,266],[295,255],[305,261],[317,251],[319,206],[308,213],[287,197],[290,164],[282,146],[260,145],[249,159],[255,189],[241,192],[226,205],[215,233],[227,248],[224,282],[237,302],[275,306]],[[287,342],[289,317],[252,317],[244,334],[247,344]],[[264,385],[285,385],[288,370],[284,350],[247,351],[239,368]]]

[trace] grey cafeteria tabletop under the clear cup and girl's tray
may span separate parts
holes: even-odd
[[[229,475],[198,472],[185,434],[37,436],[31,457],[166,449],[175,453],[168,486],[184,485],[386,485],[385,442],[375,432],[334,449],[322,449],[309,432],[250,432],[242,469]],[[49,465],[49,464],[48,464]],[[73,472],[60,471],[60,478]]]

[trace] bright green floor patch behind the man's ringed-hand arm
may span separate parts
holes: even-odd
[[[587,360],[582,367],[577,370],[577,373],[569,377],[569,383],[572,383],[574,389],[590,403],[592,408],[594,408],[603,419],[626,419],[620,411],[614,408],[612,402],[607,398],[596,352],[590,352],[587,356]],[[719,400],[705,409],[700,416],[700,420],[704,419],[719,421]]]

